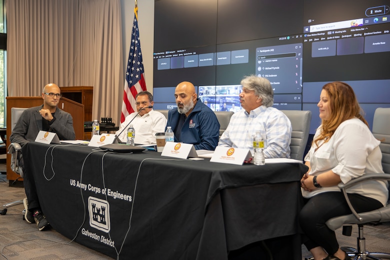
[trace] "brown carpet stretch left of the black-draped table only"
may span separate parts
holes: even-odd
[[[5,171],[4,165],[0,159],[1,172]],[[0,194],[1,209],[4,203],[25,197],[23,188],[9,187],[6,174],[0,174]],[[22,220],[23,208],[23,204],[12,206],[5,215],[0,215],[0,259],[112,259],[76,242],[70,242],[70,239],[52,228],[39,231],[35,224]]]

